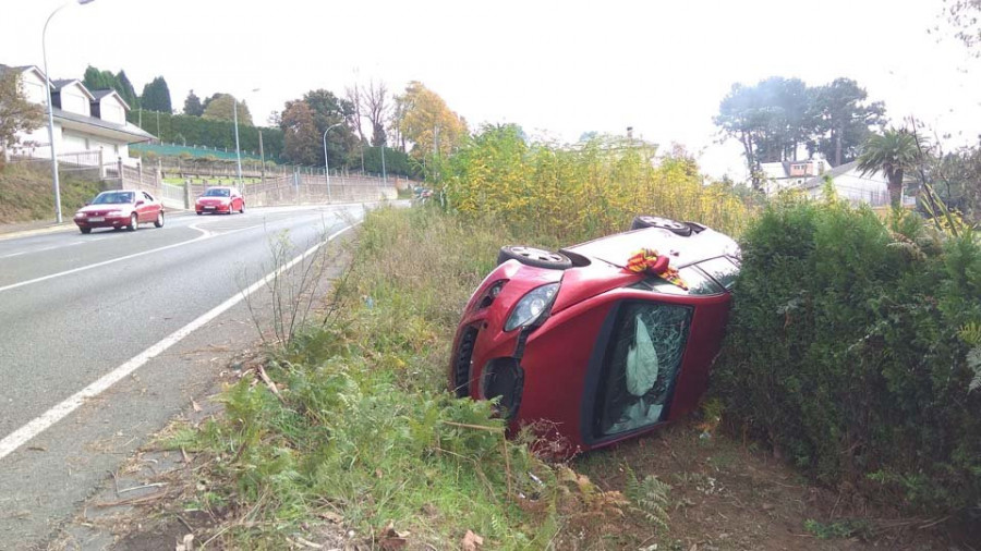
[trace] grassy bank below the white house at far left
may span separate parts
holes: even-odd
[[[61,208],[66,218],[99,193],[97,181],[62,172]],[[47,166],[0,167],[0,223],[31,222],[55,218],[51,170]]]

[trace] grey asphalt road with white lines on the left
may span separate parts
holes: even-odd
[[[245,302],[362,205],[171,216],[162,229],[0,241],[0,549],[41,547],[257,340]],[[258,316],[268,310],[261,308]],[[81,392],[81,394],[80,394]]]

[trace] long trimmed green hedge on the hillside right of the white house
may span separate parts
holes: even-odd
[[[159,127],[157,115],[159,114]],[[126,115],[133,124],[140,124],[140,110],[130,111]],[[186,114],[157,113],[156,111],[143,111],[143,125],[160,142],[173,144],[186,144],[189,146],[207,146],[210,148],[234,151],[235,125],[227,121],[213,121],[201,117]],[[282,157],[282,131],[279,128],[239,125],[239,148],[243,151],[259,150],[258,131],[263,132],[263,149],[267,159],[277,162]]]

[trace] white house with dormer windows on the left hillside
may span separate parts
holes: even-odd
[[[34,65],[0,64],[0,73],[15,71],[28,101],[47,107],[45,74]],[[51,103],[55,119],[55,149],[59,160],[82,166],[114,164],[122,161],[135,166],[130,158],[130,144],[155,137],[126,122],[130,106],[114,90],[89,90],[80,81],[52,81]],[[46,124],[20,136],[20,144],[5,151],[9,156],[50,158]]]

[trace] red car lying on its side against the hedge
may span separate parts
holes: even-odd
[[[450,389],[460,397],[500,396],[512,433],[534,425],[567,454],[690,413],[720,347],[739,248],[705,226],[686,226],[688,236],[647,228],[562,249],[571,268],[500,264],[463,311]],[[689,290],[628,271],[627,260],[644,247],[667,255]],[[550,308],[508,327],[523,298],[554,283]]]

